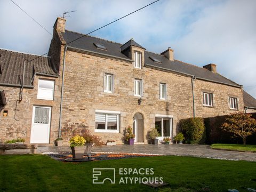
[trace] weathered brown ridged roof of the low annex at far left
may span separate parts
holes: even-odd
[[[0,73],[0,85],[21,85],[23,61],[29,61],[38,57],[38,55],[5,49],[0,49],[0,55],[0,67],[2,71],[2,73]],[[33,86],[31,84],[31,79],[35,73],[44,76],[58,76],[58,74],[54,72],[50,58],[48,57],[41,57],[27,63],[24,86]]]

